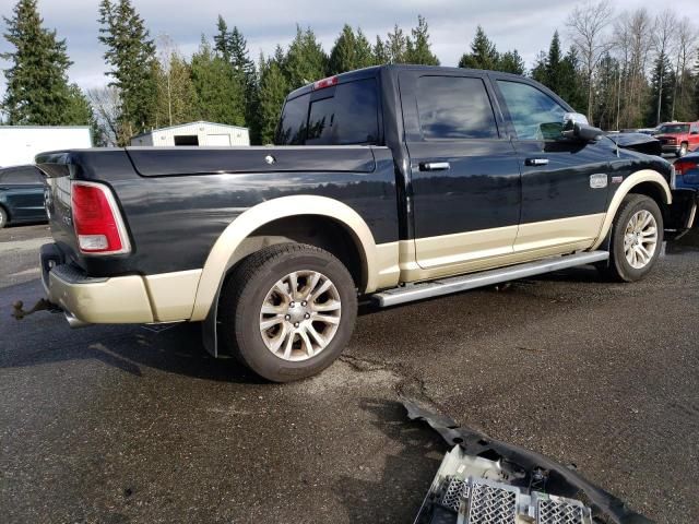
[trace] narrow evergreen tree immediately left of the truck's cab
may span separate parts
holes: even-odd
[[[264,56],[260,56],[260,106],[258,118],[260,120],[261,144],[274,142],[282,106],[289,91],[286,76],[279,62],[281,55],[283,52],[277,47],[275,58],[265,59]]]

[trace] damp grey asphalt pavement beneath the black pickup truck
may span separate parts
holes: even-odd
[[[194,325],[21,322],[46,226],[0,231],[0,522],[412,522],[447,451],[400,395],[699,521],[699,235],[632,285],[579,269],[365,311],[321,376],[264,383]]]

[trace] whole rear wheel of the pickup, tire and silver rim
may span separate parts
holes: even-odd
[[[273,382],[311,377],[330,366],[350,341],[357,315],[347,269],[328,251],[301,243],[251,254],[222,293],[223,342]]]

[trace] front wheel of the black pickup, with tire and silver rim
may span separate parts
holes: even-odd
[[[655,265],[662,243],[663,215],[655,201],[627,194],[612,226],[609,265],[604,272],[616,281],[639,281]]]

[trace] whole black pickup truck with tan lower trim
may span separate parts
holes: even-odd
[[[48,299],[72,325],[203,322],[273,381],[329,366],[378,306],[596,264],[644,276],[694,221],[659,157],[546,87],[387,66],[286,98],[274,146],[42,154]]]

